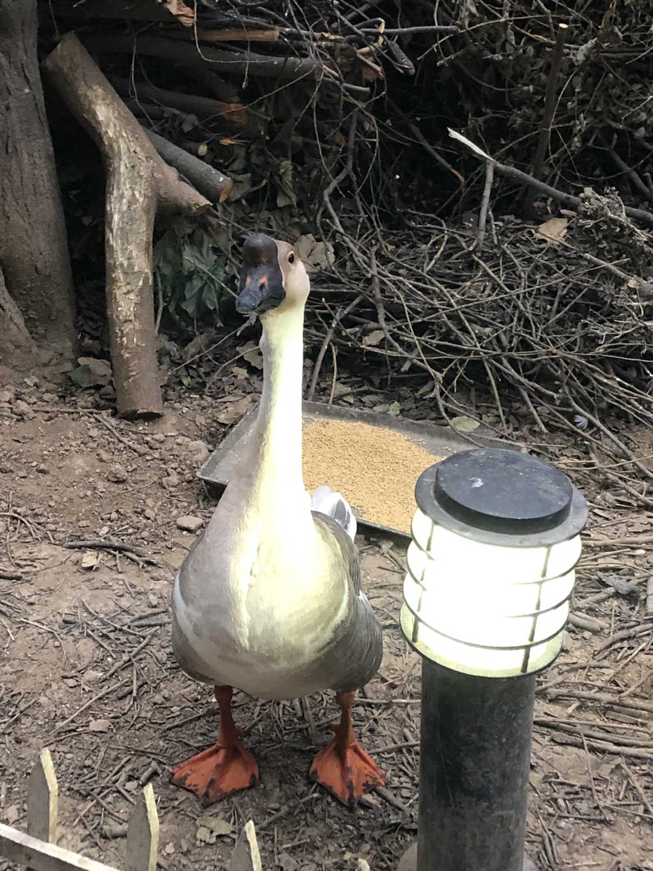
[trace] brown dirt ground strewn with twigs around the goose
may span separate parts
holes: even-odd
[[[24,827],[27,775],[48,746],[59,843],[118,868],[147,781],[165,871],[224,868],[249,819],[264,868],[337,871],[359,858],[396,868],[416,833],[420,663],[398,627],[405,551],[389,539],[359,537],[386,652],[354,711],[387,791],[353,813],[307,780],[336,717],[328,694],[234,697],[258,787],[204,811],[169,782],[217,728],[210,691],[172,656],[169,600],[194,539],[177,520],[206,521],[215,504],[196,471],[226,431],[229,401],[169,398],[163,419],[134,423],[56,379],[0,388],[0,821]],[[573,454],[562,450],[562,468]],[[653,515],[609,491],[590,505],[588,537],[615,544],[585,550],[575,611],[588,622],[569,626],[566,652],[539,681],[528,851],[542,869],[651,871]]]

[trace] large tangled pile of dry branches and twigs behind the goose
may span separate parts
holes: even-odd
[[[331,345],[421,370],[443,417],[482,382],[500,428],[508,392],[539,429],[653,423],[650,4],[123,6],[44,2],[44,47],[76,30],[145,128],[231,179],[226,297],[252,229],[324,243],[313,389]]]

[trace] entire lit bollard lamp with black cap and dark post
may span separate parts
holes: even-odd
[[[587,503],[550,463],[474,449],[415,487],[401,629],[422,657],[416,854],[402,871],[522,871],[535,675],[553,663]]]

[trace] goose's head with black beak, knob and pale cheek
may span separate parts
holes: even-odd
[[[304,307],[310,282],[292,245],[255,233],[243,246],[236,309],[240,314],[281,312]]]

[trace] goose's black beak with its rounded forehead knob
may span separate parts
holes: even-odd
[[[285,298],[276,243],[264,233],[250,236],[243,246],[236,310],[240,314],[264,314]]]

